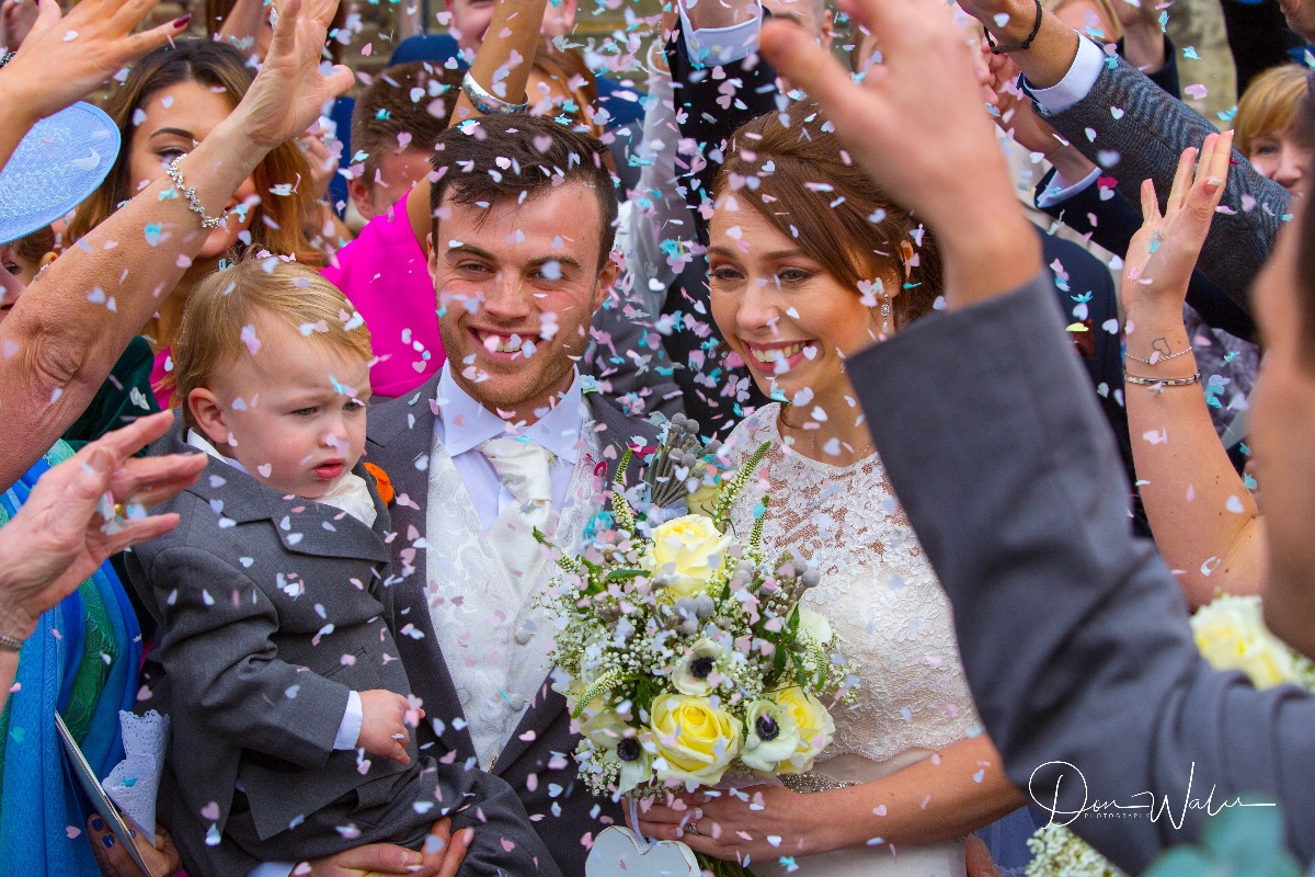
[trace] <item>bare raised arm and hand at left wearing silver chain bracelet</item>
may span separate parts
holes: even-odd
[[[78,9],[89,3],[114,0],[88,0]],[[302,0],[288,0],[270,57],[242,103],[180,164],[192,199],[167,178],[141,192],[57,259],[0,323],[7,426],[0,484],[17,479],[78,419],[162,292],[200,251],[206,231],[192,202],[218,216],[271,149],[304,131],[323,101],[351,84],[346,67],[318,68],[337,3],[305,0],[302,12]],[[125,11],[133,4],[149,7],[132,0]],[[147,226],[160,229],[158,241],[143,234]]]

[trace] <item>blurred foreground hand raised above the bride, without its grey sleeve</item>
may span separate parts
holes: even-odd
[[[1014,200],[969,49],[938,0],[843,0],[881,45],[856,84],[788,22],[763,28],[763,54],[826,110],[851,156],[936,233],[951,306],[995,295],[1040,270]]]

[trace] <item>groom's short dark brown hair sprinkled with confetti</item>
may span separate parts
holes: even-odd
[[[602,217],[598,271],[606,264],[617,237],[617,189],[608,171],[608,147],[589,134],[573,131],[550,118],[485,116],[448,128],[434,153],[438,180],[430,185],[429,209],[438,241],[438,206],[451,191],[456,204],[489,206],[547,193],[563,183],[593,189]],[[562,217],[563,230],[572,220]]]

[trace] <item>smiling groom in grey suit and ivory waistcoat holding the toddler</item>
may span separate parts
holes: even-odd
[[[571,550],[625,448],[656,437],[576,369],[617,279],[605,149],[526,116],[439,139],[430,270],[447,364],[372,410],[367,437],[396,489],[397,643],[425,705],[421,747],[509,782],[567,877],[622,817],[576,782],[535,602],[555,567],[533,529]]]

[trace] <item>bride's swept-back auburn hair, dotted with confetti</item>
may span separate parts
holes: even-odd
[[[719,206],[752,206],[855,295],[880,277],[888,293],[898,292],[890,295],[896,330],[932,309],[942,263],[931,231],[849,160],[815,103],[746,122],[727,153],[713,181]]]

